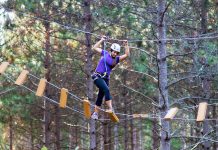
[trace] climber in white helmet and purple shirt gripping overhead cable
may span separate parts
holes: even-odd
[[[102,36],[101,40],[98,41],[94,46],[93,50],[101,55],[95,72],[92,74],[94,84],[98,87],[98,97],[95,103],[95,110],[92,113],[92,119],[98,119],[99,108],[101,107],[103,97],[105,96],[105,102],[108,106],[108,111],[113,111],[112,97],[109,89],[109,79],[111,70],[119,63],[125,60],[129,56],[128,41],[124,40],[123,44],[125,47],[125,54],[119,56],[120,45],[113,43],[110,47],[109,52],[105,49],[100,48],[102,42],[106,40],[106,36]]]

